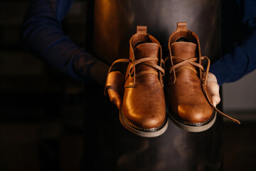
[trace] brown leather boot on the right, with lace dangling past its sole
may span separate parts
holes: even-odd
[[[166,58],[166,68],[169,68],[166,100],[169,101],[170,119],[183,130],[208,130],[215,122],[217,110],[206,86],[210,60],[201,56],[198,36],[186,28],[186,23],[178,23],[177,30],[171,34],[169,53],[170,57]],[[208,61],[206,72],[203,59]]]

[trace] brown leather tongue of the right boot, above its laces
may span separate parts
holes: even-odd
[[[186,41],[178,41],[171,44],[171,57],[174,63],[196,57],[196,44]]]

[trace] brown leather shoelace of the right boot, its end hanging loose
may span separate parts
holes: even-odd
[[[168,60],[168,59],[169,58],[166,58],[166,60]],[[225,115],[225,113],[220,112],[220,110],[218,110],[218,108],[216,108],[215,105],[213,105],[213,103],[210,101],[208,93],[206,93],[206,85],[207,85],[206,83],[207,83],[208,72],[209,72],[209,68],[210,68],[210,59],[208,57],[206,57],[206,56],[201,56],[201,60],[204,60],[204,59],[207,60],[207,68],[206,68],[205,72],[204,72],[203,66],[201,64],[199,64],[199,63],[196,63],[196,61],[198,61],[197,57],[195,57],[195,58],[188,58],[188,59],[186,59],[184,61],[176,63],[176,65],[171,66],[171,68],[169,69],[169,73],[171,73],[171,72],[174,73],[174,83],[176,82],[176,73],[175,73],[176,71],[175,71],[175,69],[184,67],[184,68],[191,69],[195,73],[198,73],[193,67],[183,66],[183,65],[188,64],[188,63],[191,64],[192,66],[196,66],[196,67],[200,68],[202,73],[203,73],[203,76],[201,76],[201,85],[202,85],[203,93],[206,95],[206,99],[208,100],[208,103],[211,105],[212,108],[214,108],[217,111],[217,113],[219,113],[220,115],[223,115],[223,117],[228,118],[229,120],[232,120],[234,123],[240,124],[239,120],[231,118],[230,116]],[[166,60],[164,60],[164,63],[166,62]]]

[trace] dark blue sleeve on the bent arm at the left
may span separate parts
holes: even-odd
[[[73,0],[31,1],[23,21],[23,40],[35,56],[61,73],[78,81],[88,81],[95,75],[95,81],[103,85],[109,66],[75,45],[63,33],[61,21],[72,4]]]

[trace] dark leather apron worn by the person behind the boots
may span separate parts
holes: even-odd
[[[188,22],[188,29],[198,34],[203,56],[212,61],[220,56],[220,1],[97,0],[93,5],[87,45],[109,65],[128,58],[128,41],[137,25],[148,26],[167,56],[178,21]],[[163,135],[142,138],[122,127],[102,86],[87,85],[85,93],[85,170],[220,170],[222,118],[203,133],[188,133],[170,122]]]

